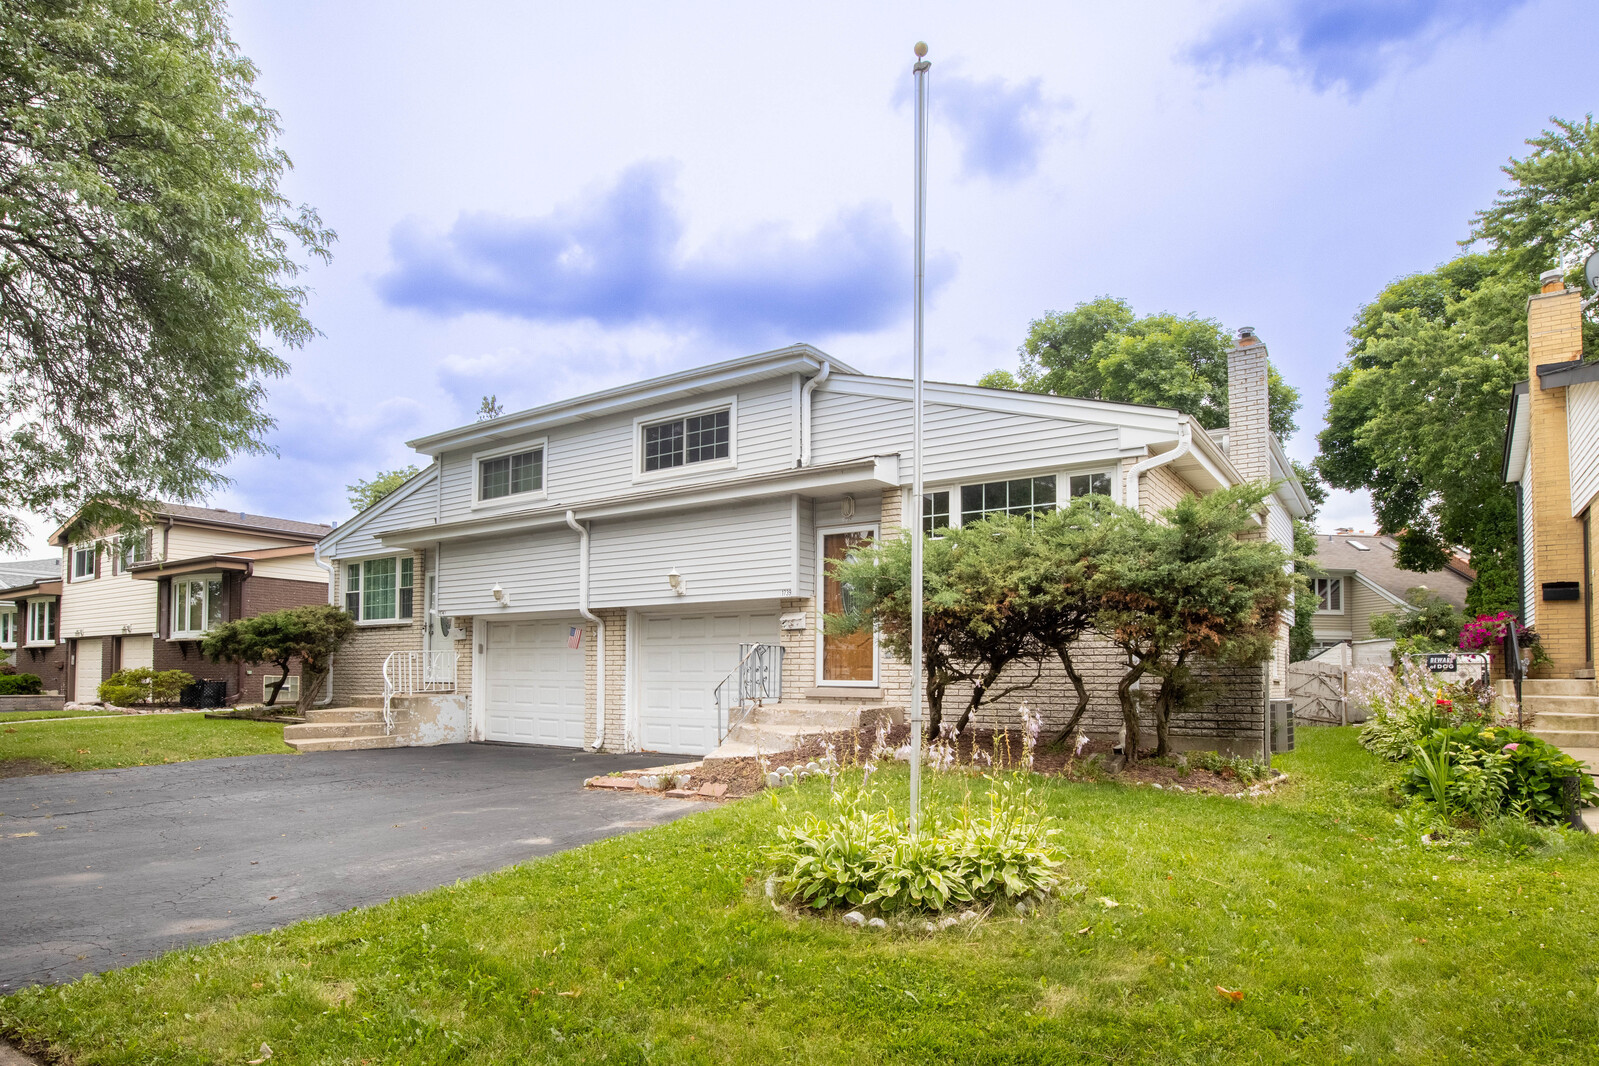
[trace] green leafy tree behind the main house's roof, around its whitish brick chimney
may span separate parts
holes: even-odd
[[[1215,430],[1226,425],[1226,352],[1233,336],[1212,318],[1134,313],[1127,300],[1102,296],[1070,312],[1035,320],[1019,348],[1020,369],[993,371],[977,384],[1057,396],[1174,408]],[[1298,390],[1268,368],[1271,432],[1298,428]]]

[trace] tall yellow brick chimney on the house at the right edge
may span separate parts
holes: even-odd
[[[1588,665],[1586,614],[1581,598],[1551,599],[1546,587],[1572,582],[1581,590],[1583,523],[1572,518],[1570,444],[1565,425],[1565,388],[1545,387],[1540,366],[1583,358],[1583,297],[1567,289],[1559,270],[1545,270],[1541,289],[1527,297],[1527,428],[1532,462],[1530,543],[1533,603],[1529,614],[1545,652],[1554,660],[1538,673],[1570,678]],[[1569,595],[1569,593],[1567,593]]]

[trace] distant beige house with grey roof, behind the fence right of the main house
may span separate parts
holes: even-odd
[[[1474,580],[1468,566],[1452,559],[1430,574],[1401,571],[1394,566],[1398,550],[1391,537],[1348,529],[1316,534],[1319,575],[1311,577],[1311,595],[1316,596],[1313,657],[1338,644],[1372,639],[1372,617],[1409,611],[1406,593],[1414,588],[1438,593],[1455,607],[1466,606],[1466,590]]]

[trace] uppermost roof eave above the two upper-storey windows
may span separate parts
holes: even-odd
[[[542,408],[518,411],[515,414],[500,416],[499,419],[445,430],[443,433],[419,436],[414,441],[406,441],[406,446],[414,447],[424,455],[438,455],[440,452],[457,447],[480,447],[496,441],[516,440],[520,436],[526,436],[528,433],[548,430],[556,425],[569,425],[572,422],[585,422],[588,419],[616,414],[619,411],[646,408],[665,400],[720,392],[748,382],[782,377],[787,374],[815,374],[822,369],[823,363],[830,363],[831,368],[841,374],[857,372],[825,352],[812,348],[807,344],[795,344],[774,352],[745,355],[737,360],[712,363],[710,366],[697,366],[691,371],[664,374],[660,377],[632,382],[617,388],[606,388],[574,396],[572,400],[544,404]]]

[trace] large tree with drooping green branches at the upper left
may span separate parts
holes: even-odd
[[[265,451],[270,340],[312,337],[334,235],[221,0],[0,5],[0,548],[21,513],[131,521]]]

